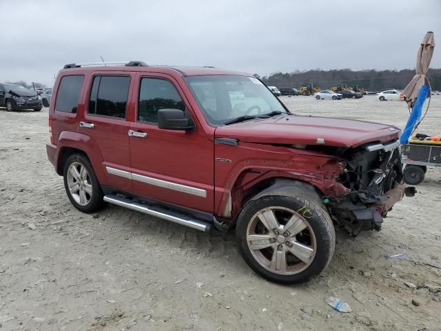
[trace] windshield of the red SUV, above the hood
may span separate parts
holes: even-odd
[[[235,75],[185,77],[205,119],[221,126],[238,117],[287,113],[282,103],[258,79]]]

